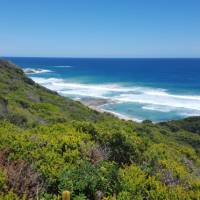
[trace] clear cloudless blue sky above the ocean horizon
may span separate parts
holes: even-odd
[[[0,0],[0,56],[200,57],[200,0]]]

